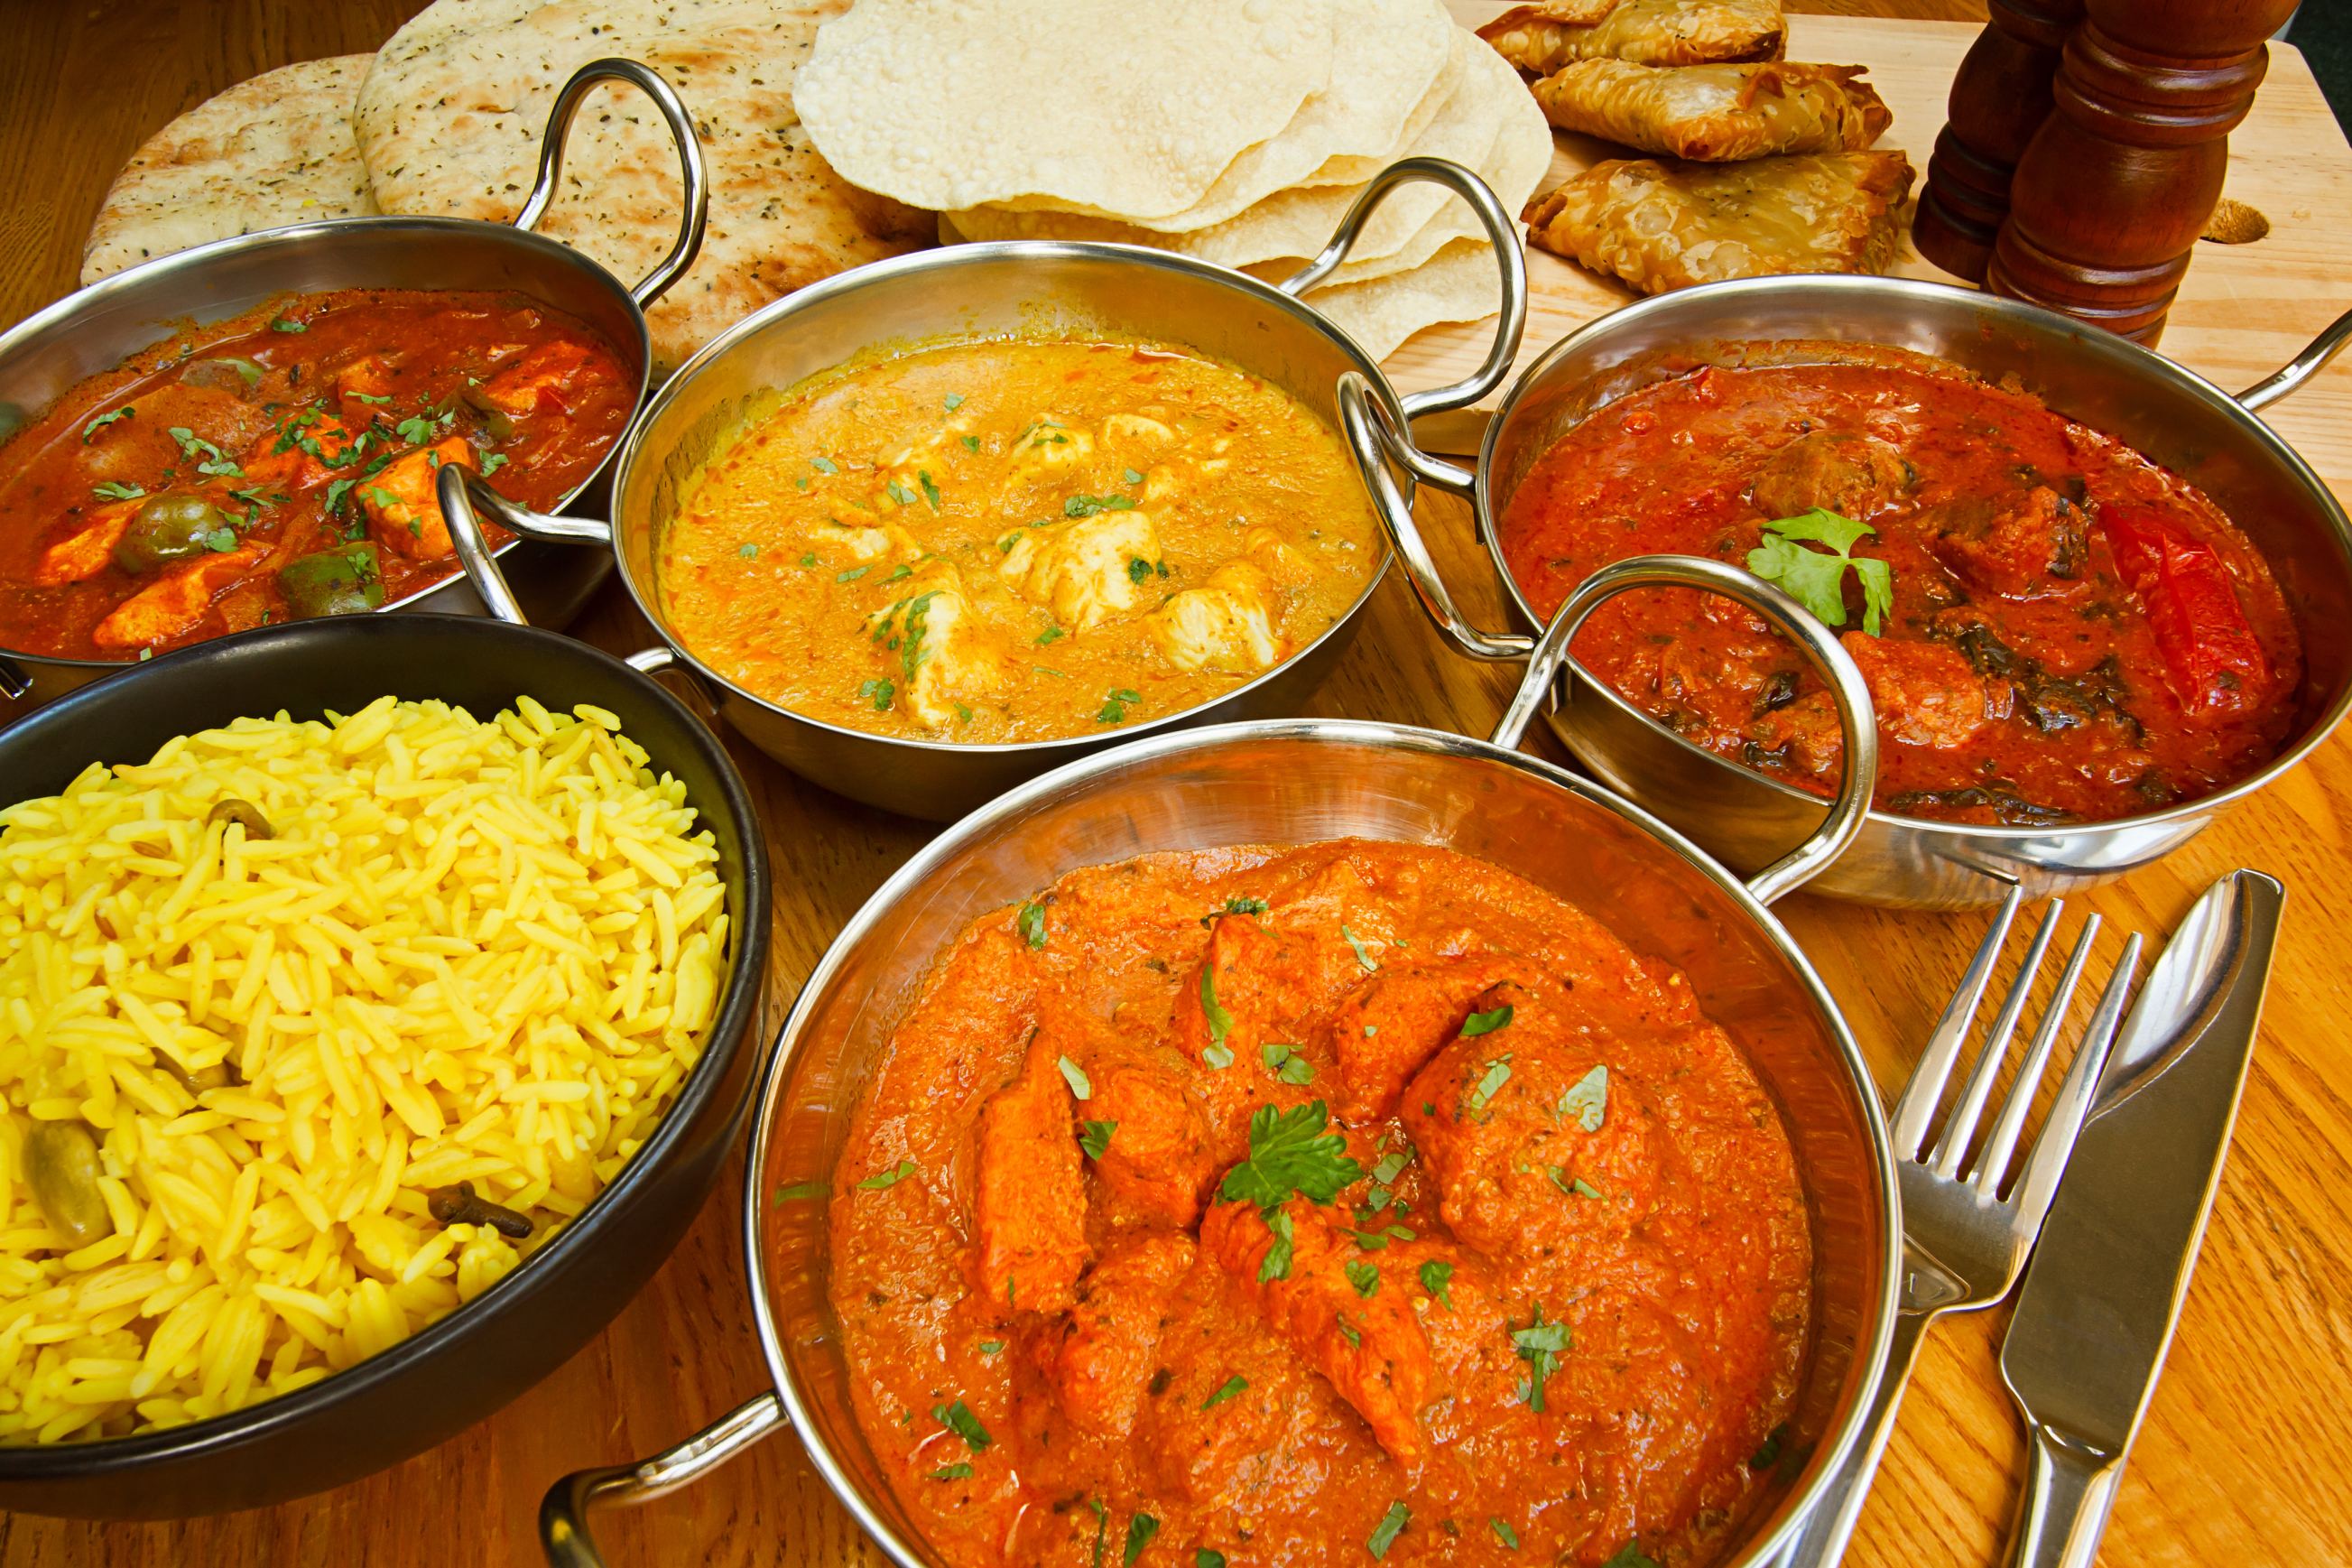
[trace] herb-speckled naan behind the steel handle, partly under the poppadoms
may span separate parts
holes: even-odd
[[[844,268],[931,242],[929,214],[842,181],[809,143],[793,82],[816,26],[849,0],[435,0],[393,33],[353,115],[383,212],[510,221],[564,80],[619,54],[684,99],[710,169],[694,268],[647,310],[656,374],[750,310]],[[677,237],[670,132],[635,87],[597,87],[572,125],[564,188],[541,221],[621,282]]]

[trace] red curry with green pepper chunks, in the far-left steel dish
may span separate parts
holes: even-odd
[[[0,646],[146,658],[405,599],[459,571],[442,463],[550,508],[635,402],[612,343],[520,294],[308,294],[183,334],[0,447]]]

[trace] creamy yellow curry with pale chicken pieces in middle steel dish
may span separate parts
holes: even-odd
[[[1284,663],[1381,562],[1355,463],[1190,350],[990,339],[786,393],[663,534],[670,630],[795,712],[950,743],[1087,736]]]

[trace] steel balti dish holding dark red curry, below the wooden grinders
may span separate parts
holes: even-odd
[[[1449,642],[1472,658],[1526,658],[1531,646],[1526,632],[1482,632],[1461,616],[1404,496],[1395,484],[1381,489],[1390,463],[1472,501],[1515,618],[1536,628],[1496,529],[1536,458],[1595,409],[1700,364],[1726,362],[1738,343],[1776,339],[1891,346],[1936,355],[1987,381],[2013,376],[2053,411],[2131,444],[2220,503],[2270,557],[2305,637],[2296,731],[2241,783],[2143,816],[2058,827],[1872,811],[1816,891],[1879,905],[1969,907],[1999,900],[2013,882],[2046,893],[2119,877],[2178,849],[2230,804],[2293,769],[2352,708],[2352,522],[2310,463],[2256,416],[2352,339],[2352,315],[2279,374],[2230,397],[2138,343],[2039,306],[1905,277],[1715,282],[1604,315],[1522,371],[1486,428],[1475,473],[1421,454],[1395,435],[1402,425],[1383,423],[1371,400],[1343,390],[1357,463],[1381,494],[1392,545]],[[1726,865],[1764,865],[1820,823],[1816,795],[1700,750],[1573,663],[1548,717],[1597,778]]]

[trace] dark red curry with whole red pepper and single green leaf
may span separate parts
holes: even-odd
[[[1903,816],[2157,811],[2256,773],[2296,722],[2293,616],[2213,501],[1917,355],[1708,367],[1621,397],[1538,458],[1501,545],[1541,616],[1653,550],[1780,581],[1849,628],[1879,715],[1877,804]],[[1816,795],[1839,776],[1828,689],[1726,599],[1621,595],[1576,658],[1722,757]]]

